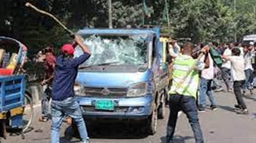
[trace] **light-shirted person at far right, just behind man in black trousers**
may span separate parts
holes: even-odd
[[[251,45],[252,44],[252,45]],[[250,43],[250,47],[253,46],[253,43]],[[247,89],[251,89],[251,83],[252,83],[252,80],[251,77],[252,77],[252,72],[253,72],[253,68],[252,68],[252,53],[251,53],[251,48],[249,48],[248,45],[245,45],[244,46],[244,72],[245,72],[245,83],[243,85],[243,92],[245,93],[245,91]]]

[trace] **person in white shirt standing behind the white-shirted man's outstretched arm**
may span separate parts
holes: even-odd
[[[226,48],[226,50],[224,51],[223,56],[231,56],[232,48],[233,48],[233,44],[231,43],[228,46],[228,48]],[[232,84],[231,84],[231,78],[230,78],[231,77],[230,70],[231,70],[231,63],[230,63],[230,61],[224,59],[224,63],[221,66],[221,76],[222,76],[222,78],[224,80],[224,83],[225,83],[225,85],[227,87],[227,91],[228,92],[232,91],[232,87],[231,87]]]

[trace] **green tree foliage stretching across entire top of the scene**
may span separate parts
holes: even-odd
[[[145,24],[160,26],[175,38],[200,41],[233,41],[256,32],[255,0],[112,0],[114,28]],[[53,46],[58,52],[72,39],[51,18],[24,6],[24,0],[0,1],[0,33],[22,41],[32,57]],[[56,15],[74,32],[84,27],[108,27],[108,0],[28,0]],[[166,11],[167,9],[168,11]],[[145,9],[145,8],[144,8]],[[169,14],[167,21],[166,13]],[[167,27],[170,22],[171,28]]]

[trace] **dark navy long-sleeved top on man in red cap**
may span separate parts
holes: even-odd
[[[74,84],[78,72],[78,66],[84,63],[90,54],[84,53],[80,57],[65,59],[63,56],[57,58],[54,68],[54,79],[52,99],[62,101],[74,97]]]

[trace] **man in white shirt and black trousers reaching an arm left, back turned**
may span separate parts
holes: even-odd
[[[241,109],[242,113],[248,114],[248,109],[242,98],[241,88],[245,83],[245,73],[244,73],[244,58],[240,56],[240,49],[233,48],[232,56],[222,56],[223,59],[231,61],[231,75],[234,80],[233,88],[236,95],[237,103],[235,108]]]

